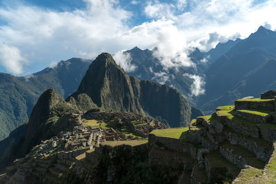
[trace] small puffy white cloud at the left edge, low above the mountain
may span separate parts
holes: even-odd
[[[22,74],[23,65],[27,62],[18,48],[0,41],[0,63],[8,72]]]

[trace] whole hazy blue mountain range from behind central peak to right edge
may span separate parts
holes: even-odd
[[[275,90],[276,32],[259,27],[246,39],[219,43],[208,52],[195,48],[190,59],[196,68],[181,67],[167,70],[154,57],[155,50],[133,48],[130,54],[137,70],[128,72],[139,79],[163,82],[178,89],[188,102],[211,114],[219,105],[231,105],[244,96],[259,96],[266,90]],[[207,62],[202,62],[207,59]],[[162,81],[165,73],[166,81]],[[195,74],[204,79],[205,93],[190,96],[193,79],[184,74]],[[162,78],[163,77],[163,78]]]

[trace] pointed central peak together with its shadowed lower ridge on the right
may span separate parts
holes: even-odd
[[[185,126],[190,121],[190,105],[177,90],[128,76],[108,53],[92,62],[68,101],[78,101],[79,94],[90,96],[101,109],[161,117],[171,127]]]

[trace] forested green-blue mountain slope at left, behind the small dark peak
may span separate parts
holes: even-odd
[[[37,99],[48,88],[65,98],[74,92],[91,62],[72,58],[21,77],[0,73],[0,140],[28,121]]]

